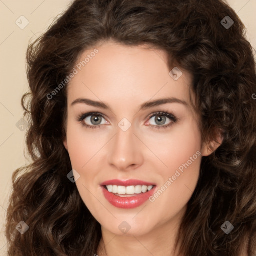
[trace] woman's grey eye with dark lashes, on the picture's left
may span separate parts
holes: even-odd
[[[77,121],[81,122],[87,128],[100,128],[100,124],[108,124],[109,122],[98,112],[81,114]],[[103,123],[102,123],[103,121]]]

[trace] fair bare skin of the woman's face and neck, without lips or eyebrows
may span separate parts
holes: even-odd
[[[103,255],[170,255],[177,229],[199,176],[202,156],[212,150],[202,143],[199,117],[191,107],[189,86],[192,76],[185,70],[178,80],[170,75],[167,55],[146,45],[126,46],[113,41],[97,45],[98,53],[71,79],[67,91],[66,139],[72,168],[80,177],[76,186],[92,215],[101,224],[102,239],[98,251]],[[77,63],[93,51],[87,49]],[[187,102],[167,103],[140,109],[147,101],[175,97]],[[77,98],[104,102],[110,109],[71,103]],[[192,95],[194,100],[194,95]],[[77,121],[81,113],[102,113],[95,129]],[[167,128],[157,128],[154,112],[170,112],[178,120],[166,117]],[[118,123],[126,118],[131,127],[123,131]],[[88,125],[90,117],[86,118]],[[164,125],[163,124],[163,125]],[[214,150],[218,145],[211,144]],[[200,156],[155,199],[133,209],[111,205],[100,183],[109,179],[140,179],[155,183],[156,191],[196,152]],[[126,221],[124,234],[118,226]],[[172,252],[171,255],[175,255]]]

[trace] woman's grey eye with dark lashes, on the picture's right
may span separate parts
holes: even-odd
[[[154,128],[167,128],[175,123],[178,119],[168,112],[153,113],[146,124],[153,126]]]

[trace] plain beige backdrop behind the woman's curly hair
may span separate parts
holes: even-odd
[[[27,162],[23,153],[26,129],[23,126],[22,130],[22,123],[17,124],[23,114],[20,99],[28,88],[25,74],[26,48],[29,39],[43,33],[54,17],[71,2],[72,0],[0,0],[0,255],[6,255],[3,232],[11,175]],[[247,27],[247,39],[255,49],[256,0],[228,0],[228,3]],[[29,23],[21,29],[15,22],[21,28],[26,22]]]

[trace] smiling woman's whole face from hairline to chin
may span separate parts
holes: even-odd
[[[162,50],[108,41],[80,56],[68,84],[64,145],[76,186],[114,234],[177,221],[208,154],[190,102],[192,76],[181,68],[170,75],[166,63]]]

